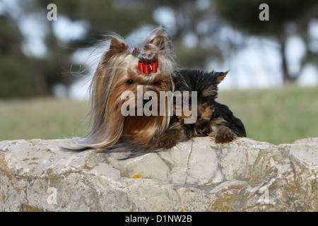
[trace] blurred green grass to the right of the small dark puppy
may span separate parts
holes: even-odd
[[[245,124],[247,136],[269,143],[290,143],[318,136],[318,88],[232,90],[219,94]]]

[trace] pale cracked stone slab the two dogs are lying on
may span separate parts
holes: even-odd
[[[0,211],[318,211],[318,138],[194,138],[129,160],[67,144],[1,141]]]

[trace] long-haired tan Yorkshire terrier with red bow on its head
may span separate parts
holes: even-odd
[[[113,37],[90,85],[91,130],[84,138],[71,139],[79,148],[64,150],[103,150],[123,138],[143,147],[160,137],[170,117],[138,114],[151,99],[138,102],[137,94],[173,92],[170,74],[175,70],[175,57],[171,48],[169,35],[160,28],[147,37],[141,49],[129,48],[122,37]],[[124,115],[123,109],[131,114]]]

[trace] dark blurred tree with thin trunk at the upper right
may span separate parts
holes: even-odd
[[[308,62],[317,66],[318,52],[310,48],[309,25],[318,18],[318,2],[315,0],[214,0],[218,16],[225,18],[237,30],[248,35],[259,35],[275,40],[280,46],[281,68],[284,83],[293,83],[300,76]],[[259,20],[259,6],[269,6],[269,20]],[[293,28],[293,29],[290,29]],[[302,59],[300,71],[291,73],[288,69],[286,41],[290,35],[299,35],[306,43],[306,54]]]

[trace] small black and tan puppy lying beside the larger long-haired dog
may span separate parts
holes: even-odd
[[[211,136],[216,143],[228,143],[237,137],[245,137],[245,126],[237,119],[226,105],[216,102],[218,84],[228,74],[226,72],[204,72],[201,70],[182,69],[172,73],[175,93],[189,93],[189,101],[183,102],[187,108],[196,107],[195,115],[185,115],[183,110],[177,114],[177,98],[174,99],[174,114],[170,118],[170,126],[160,137],[156,137],[152,145],[139,146],[130,141],[122,141],[112,146],[110,151],[129,151],[129,157],[166,150],[179,141],[187,141],[196,136]],[[195,97],[191,94],[196,92]],[[175,95],[177,97],[177,95]],[[196,105],[192,106],[192,98]],[[184,108],[182,108],[184,109]],[[194,123],[186,123],[185,119],[194,117]]]

